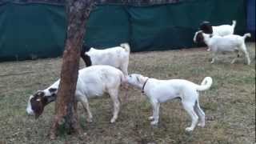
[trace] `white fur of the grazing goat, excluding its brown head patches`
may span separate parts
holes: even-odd
[[[118,70],[112,66],[90,66],[82,70],[79,70],[78,83],[75,90],[75,98],[82,103],[82,106],[87,110],[88,121],[92,121],[92,114],[89,108],[88,98],[102,97],[103,94],[109,94],[110,98],[114,102],[114,116],[110,122],[115,122],[118,118],[118,112],[120,102],[118,100],[119,86],[125,82],[125,76],[121,70]],[[50,88],[56,88],[58,90],[59,80],[54,82],[53,85],[46,90],[42,90],[45,96],[50,96]],[[57,91],[54,92],[57,94]],[[33,96],[30,96],[30,99]],[[30,100],[26,108],[28,114],[34,114],[31,109]]]

